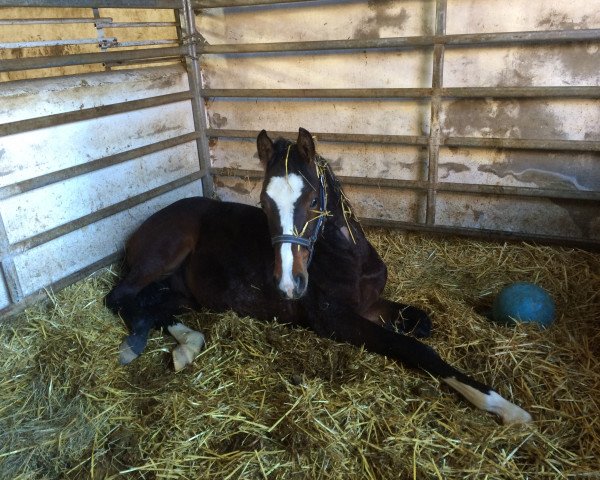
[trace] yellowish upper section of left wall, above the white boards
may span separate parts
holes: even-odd
[[[0,19],[0,61],[15,58],[65,58],[89,55],[99,50],[108,52],[178,44],[173,10],[93,8],[101,6],[102,2],[87,2],[88,8],[66,8],[75,4],[69,0],[7,1],[3,4],[11,3],[15,7],[4,8]],[[131,2],[113,3],[120,3],[125,7]],[[39,7],[22,7],[27,4]],[[65,8],[45,8],[44,5]],[[166,63],[173,63],[173,60]],[[28,70],[27,63],[23,62],[22,68],[10,72],[0,71],[0,81],[101,72],[107,65],[116,69],[128,68],[122,61],[105,65],[102,62],[77,64],[67,61],[60,66],[45,68],[41,73]]]

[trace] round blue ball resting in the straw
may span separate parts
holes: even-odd
[[[528,282],[504,287],[494,300],[492,318],[499,323],[538,323],[546,328],[556,316],[552,297],[541,287]]]

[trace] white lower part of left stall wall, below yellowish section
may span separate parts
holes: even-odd
[[[0,89],[0,124],[188,90],[182,65],[8,82]],[[0,137],[0,312],[116,258],[151,213],[202,194],[197,145],[190,140],[80,175],[68,172],[191,132],[188,99]],[[28,186],[61,172],[64,178]],[[110,213],[118,204],[127,208]],[[108,215],[95,217],[101,212]]]

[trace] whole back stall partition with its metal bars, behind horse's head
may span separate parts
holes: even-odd
[[[197,12],[222,198],[304,126],[367,224],[600,244],[597,2],[253,3]]]

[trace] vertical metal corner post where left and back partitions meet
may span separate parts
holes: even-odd
[[[210,174],[210,150],[208,146],[206,106],[202,96],[202,76],[200,73],[200,59],[196,41],[200,35],[196,31],[196,20],[190,0],[181,0],[182,8],[179,14],[180,41],[187,44],[186,66],[192,92],[192,114],[194,116],[194,128],[200,136],[196,140],[198,158],[200,160],[200,175],[202,177],[202,194],[212,197],[214,194],[213,179]]]

